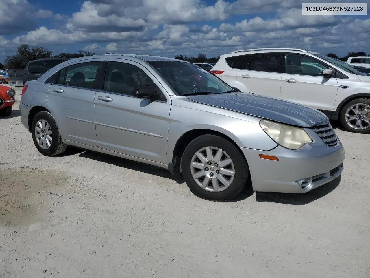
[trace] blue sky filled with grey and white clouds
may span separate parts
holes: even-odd
[[[203,52],[212,57],[256,47],[299,47],[339,56],[370,53],[369,15],[303,16],[297,0],[1,3],[6,9],[0,10],[0,62],[25,43],[54,54],[87,50],[174,57]]]

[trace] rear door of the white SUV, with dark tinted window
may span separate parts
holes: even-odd
[[[252,54],[238,72],[236,87],[256,95],[280,97],[282,53]]]

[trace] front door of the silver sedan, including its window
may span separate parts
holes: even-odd
[[[104,87],[95,95],[98,147],[165,163],[171,99],[167,96],[162,101],[151,101],[134,97],[135,87],[144,85],[154,85],[164,92],[142,65],[122,59],[107,63]]]

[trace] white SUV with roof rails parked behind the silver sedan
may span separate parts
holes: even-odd
[[[312,107],[351,132],[370,133],[370,76],[346,62],[293,48],[238,50],[210,71],[244,92]]]

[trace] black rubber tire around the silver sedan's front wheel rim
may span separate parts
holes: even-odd
[[[225,151],[229,155],[229,157],[232,159],[233,164],[234,164],[235,174],[233,177],[233,181],[231,182],[231,185],[228,188],[222,191],[219,191],[219,192],[214,192],[214,191],[210,192],[210,191],[207,191],[201,188],[201,186],[199,186],[195,182],[195,180],[193,179],[192,173],[191,173],[190,165],[191,165],[192,157],[195,155],[195,153],[199,149],[208,147],[208,146],[219,148]],[[189,143],[189,145],[186,146],[184,155],[182,156],[181,170],[182,170],[182,176],[186,184],[188,185],[188,187],[190,188],[191,192],[194,195],[202,199],[207,199],[210,201],[218,201],[218,202],[228,201],[238,196],[239,193],[242,192],[242,190],[245,188],[246,182],[249,176],[248,164],[244,156],[242,155],[242,153],[240,153],[239,149],[236,148],[228,140],[223,139],[216,135],[201,135],[195,138],[194,140],[192,140]],[[211,185],[211,181],[209,184]]]

